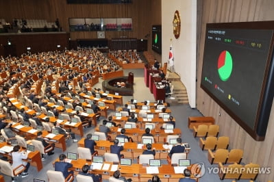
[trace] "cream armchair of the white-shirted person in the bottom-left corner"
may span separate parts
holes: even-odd
[[[12,165],[10,165],[10,162],[3,161],[0,159],[1,174],[5,174],[9,177],[12,177],[12,181],[14,180],[14,177],[16,177],[18,174],[21,174],[24,170],[25,170],[25,166],[23,164],[12,169]]]

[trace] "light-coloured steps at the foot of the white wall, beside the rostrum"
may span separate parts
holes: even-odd
[[[171,103],[172,105],[188,104],[188,93],[179,75],[177,75],[177,73],[171,73],[169,70],[166,75],[167,79],[169,79],[174,86],[173,94],[171,97],[166,98],[166,103]]]

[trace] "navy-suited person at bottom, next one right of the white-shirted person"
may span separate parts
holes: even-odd
[[[72,168],[73,165],[69,162],[66,162],[66,155],[59,155],[59,161],[56,161],[54,164],[55,171],[60,171],[63,173],[64,178],[66,179],[69,174],[73,174],[73,170],[69,171],[69,168]]]

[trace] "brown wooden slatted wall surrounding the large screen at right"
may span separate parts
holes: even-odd
[[[205,42],[206,23],[239,22],[239,21],[273,21],[273,0],[197,0],[197,17],[201,23],[197,24],[197,109],[204,116],[214,116],[220,125],[220,135],[228,135],[230,148],[242,148],[244,163],[257,163],[260,166],[274,168],[274,104],[271,109],[266,138],[263,142],[256,142],[245,130],[238,125],[213,99],[201,88],[201,68],[203,65],[203,47]],[[221,116],[219,116],[219,112]],[[274,173],[259,174],[258,180],[274,179]]]

